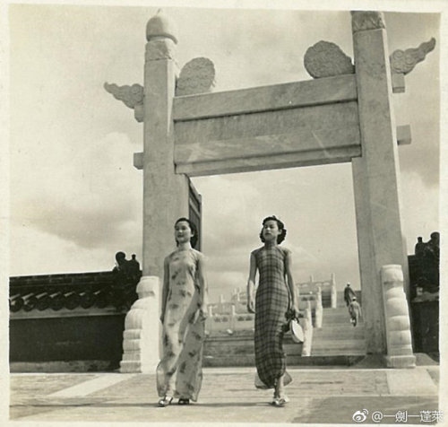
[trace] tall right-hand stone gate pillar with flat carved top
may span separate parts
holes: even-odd
[[[385,353],[380,270],[408,263],[401,231],[400,169],[383,13],[352,12],[362,157],[352,160],[367,353]]]

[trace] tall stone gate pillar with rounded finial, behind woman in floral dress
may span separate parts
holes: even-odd
[[[159,360],[160,301],[163,259],[175,247],[174,222],[188,217],[188,179],[175,173],[174,122],[172,104],[176,89],[174,52],[177,39],[174,25],[163,13],[150,19],[146,26],[143,87],[143,258],[139,286],[151,282],[155,289],[138,308],[147,310],[151,322],[144,323],[145,339],[151,343],[151,361],[140,363],[155,368]],[[142,315],[143,316],[143,315]],[[133,338],[134,339],[134,338]],[[126,344],[126,337],[124,346]],[[141,356],[143,353],[139,353]],[[124,355],[126,356],[126,353]],[[134,357],[134,356],[133,356]],[[143,357],[143,356],[142,356]],[[124,363],[126,360],[124,359]],[[126,363],[125,363],[126,364]],[[141,371],[128,364],[130,372]],[[141,368],[142,369],[142,368]],[[146,369],[146,368],[145,368]]]

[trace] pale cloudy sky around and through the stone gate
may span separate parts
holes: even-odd
[[[142,262],[142,123],[103,84],[143,81],[154,5],[9,5],[9,275],[110,270],[123,250]],[[159,2],[161,4],[161,2]],[[193,3],[188,3],[190,6]],[[333,6],[334,7],[334,6]],[[177,23],[177,63],[208,57],[214,92],[310,80],[306,49],[319,40],[353,57],[349,10],[164,7]],[[439,225],[438,13],[385,13],[389,51],[435,50],[393,95],[401,216],[408,253]],[[202,195],[202,251],[211,300],[244,289],[265,216],[285,222],[297,283],[332,273],[359,289],[349,163],[193,179]],[[219,206],[219,209],[217,209]],[[171,236],[167,237],[171,239]]]

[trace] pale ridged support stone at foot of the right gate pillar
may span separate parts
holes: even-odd
[[[386,317],[386,362],[390,368],[414,368],[409,309],[399,265],[382,266],[384,313]]]

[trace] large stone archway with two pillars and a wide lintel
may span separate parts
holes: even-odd
[[[158,360],[159,278],[172,223],[188,215],[189,177],[343,161],[353,171],[367,353],[387,354],[390,366],[414,365],[402,291],[408,261],[397,147],[409,129],[397,132],[392,111],[392,91],[404,90],[406,71],[391,70],[382,13],[353,12],[352,32],[355,66],[337,46],[319,42],[305,58],[314,80],[213,93],[214,67],[206,58],[190,61],[177,78],[176,33],[159,13],[147,25],[144,85],[105,85],[144,126],[144,149],[134,154],[134,166],[143,170],[139,289],[145,298],[137,302],[147,314],[144,321],[135,317],[134,329],[146,322],[151,330],[145,366]],[[389,265],[396,274],[382,275]],[[387,286],[398,290],[392,308]],[[142,339],[135,334],[128,338]],[[136,361],[124,360],[132,369],[142,369],[139,352]]]

